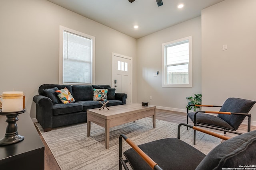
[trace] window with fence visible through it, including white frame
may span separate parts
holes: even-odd
[[[191,87],[191,37],[164,43],[163,86]]]

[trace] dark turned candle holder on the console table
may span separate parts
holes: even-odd
[[[8,123],[4,138],[0,140],[0,146],[10,145],[24,140],[22,135],[18,135],[18,126],[16,121],[18,121],[18,115],[25,111],[26,109],[21,111],[2,112],[2,109],[0,109],[0,115],[5,115],[7,118],[6,122]]]

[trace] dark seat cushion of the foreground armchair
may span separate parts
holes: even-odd
[[[162,169],[191,170],[206,156],[189,144],[176,138],[160,139],[138,145]],[[183,153],[183,154],[177,154]],[[124,156],[134,170],[151,170],[150,166],[137,154],[134,149],[128,149]]]

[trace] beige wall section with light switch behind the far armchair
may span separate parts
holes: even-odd
[[[256,100],[256,0],[225,0],[202,10],[202,102]],[[227,50],[222,50],[227,45]],[[251,110],[256,125],[256,106]]]

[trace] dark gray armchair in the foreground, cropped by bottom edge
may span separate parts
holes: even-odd
[[[179,139],[181,125],[196,128],[198,131],[224,140],[228,139],[226,136],[185,123],[178,126],[178,139],[160,139],[138,146],[121,134],[119,137],[119,170],[122,170],[122,167],[128,170],[127,163],[133,170],[221,170],[241,168],[245,165],[256,168],[256,130],[228,139],[205,155]],[[122,157],[122,139],[132,147],[123,153],[125,160]]]

